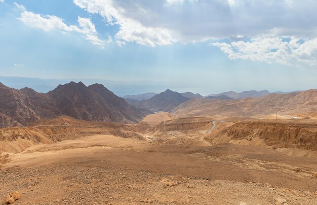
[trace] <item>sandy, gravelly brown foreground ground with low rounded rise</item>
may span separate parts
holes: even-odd
[[[316,158],[249,145],[98,135],[1,161],[0,199],[19,191],[15,204],[317,204]]]

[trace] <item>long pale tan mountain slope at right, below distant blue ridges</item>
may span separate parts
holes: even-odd
[[[254,116],[258,114],[307,113],[317,111],[317,90],[269,94],[240,100],[190,99],[172,113],[180,116]]]

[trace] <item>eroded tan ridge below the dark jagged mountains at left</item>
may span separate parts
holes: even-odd
[[[34,127],[0,129],[0,152],[19,153],[32,145],[51,144],[90,135],[143,139],[136,132],[135,126],[116,122],[93,122],[61,116],[41,119],[32,124]]]

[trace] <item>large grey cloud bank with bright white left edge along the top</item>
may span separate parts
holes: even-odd
[[[127,41],[146,38],[151,45],[199,42],[229,36],[317,36],[314,0],[73,0],[78,7],[103,16],[108,25],[117,24]],[[167,6],[170,5],[170,6]],[[283,15],[281,15],[283,14]],[[303,15],[305,14],[305,15]],[[126,24],[131,24],[132,28]],[[135,28],[135,29],[133,29]],[[153,36],[152,30],[155,31]],[[161,32],[162,30],[162,32]],[[166,35],[168,33],[168,35]],[[157,40],[164,37],[165,43]],[[124,40],[124,39],[123,39]]]

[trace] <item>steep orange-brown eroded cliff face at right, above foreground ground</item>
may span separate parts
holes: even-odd
[[[246,120],[235,122],[222,133],[237,140],[260,138],[268,146],[317,150],[315,122]]]

